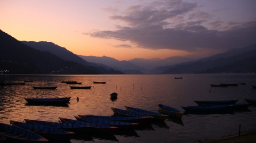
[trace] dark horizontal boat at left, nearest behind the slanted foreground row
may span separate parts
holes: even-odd
[[[32,104],[67,104],[70,101],[71,97],[62,97],[62,98],[25,98],[28,103]]]

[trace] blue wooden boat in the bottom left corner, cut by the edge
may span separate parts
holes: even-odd
[[[48,140],[27,129],[15,127],[9,124],[0,123],[0,134],[6,138],[8,142],[36,143],[48,142]]]

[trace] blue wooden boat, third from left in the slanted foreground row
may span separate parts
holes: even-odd
[[[70,132],[75,133],[91,133],[93,132],[94,127],[92,125],[78,125],[78,124],[67,124],[67,123],[56,123],[56,122],[48,122],[42,120],[28,120],[24,119],[26,123],[44,125],[53,128],[59,128]]]

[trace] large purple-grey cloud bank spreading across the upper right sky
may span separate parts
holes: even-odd
[[[209,22],[207,26],[205,24],[212,15],[196,8],[197,3],[181,0],[130,6],[122,15],[110,16],[110,19],[125,24],[117,25],[116,31],[87,34],[97,38],[130,41],[145,49],[189,52],[199,49],[228,50],[255,43],[256,21],[224,23],[218,20]]]

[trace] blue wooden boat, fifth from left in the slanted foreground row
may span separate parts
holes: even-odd
[[[75,116],[77,120],[81,120],[84,122],[104,124],[113,127],[118,127],[119,129],[136,129],[140,124],[138,123],[129,123],[129,122],[119,122],[113,120],[101,120],[101,119],[93,119],[93,118],[85,118],[82,116]]]

